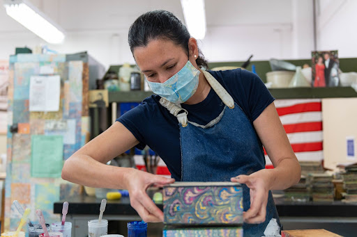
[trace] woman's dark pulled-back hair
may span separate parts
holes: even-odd
[[[128,42],[131,52],[135,47],[145,47],[150,40],[166,38],[180,45],[188,53],[188,40],[190,33],[185,25],[167,10],[153,10],[139,16],[130,26]],[[208,63],[204,59],[202,51],[196,59],[199,67],[208,69]]]

